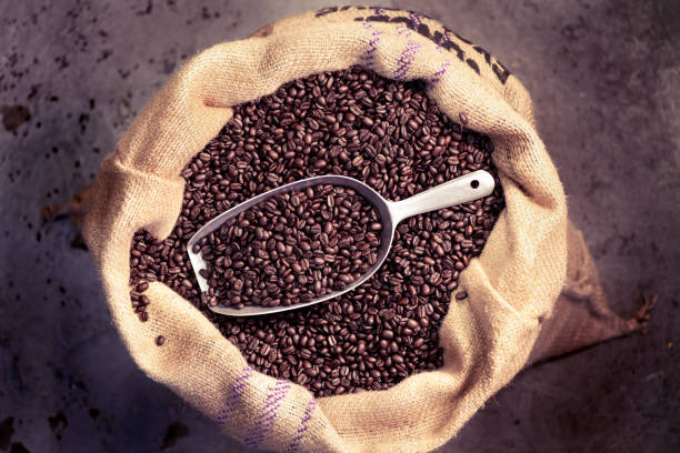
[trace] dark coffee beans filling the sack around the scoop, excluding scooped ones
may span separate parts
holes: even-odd
[[[401,200],[473,170],[496,173],[492,150],[488,137],[446,117],[421,82],[353,68],[287,83],[236,107],[184,168],[182,210],[168,239],[134,234],[132,305],[147,319],[140,284],[159,280],[201,309],[253,368],[318,396],[388,389],[440,368],[438,331],[460,271],[481,253],[503,209],[498,182],[482,200],[401,222],[386,262],[353,291],[274,315],[208,310],[187,242],[219,213],[288,182],[344,174]],[[451,303],[466,303],[456,292]]]

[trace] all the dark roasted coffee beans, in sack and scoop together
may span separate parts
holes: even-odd
[[[258,298],[283,304],[313,299],[317,281],[330,290],[344,284],[340,275],[356,281],[377,250],[370,234],[380,236],[371,229],[380,219],[356,214],[356,202],[347,200],[356,193],[339,188],[289,193],[284,203],[262,207],[260,218],[246,212],[213,235],[232,240],[198,244],[197,253],[223,269],[213,275],[212,293],[201,294],[187,241],[231,207],[303,178],[344,174],[399,201],[478,169],[494,173],[492,150],[487,137],[441,113],[423,83],[387,80],[359,68],[310,76],[236,105],[230,122],[181,172],[187,184],[172,233],[163,241],[144,231],[134,234],[131,310],[149,319],[151,302],[138,285],[156,279],[199,308],[251,366],[317,396],[383,390],[411,373],[440,368],[438,331],[460,272],[481,253],[503,208],[500,184],[484,200],[402,221],[386,262],[353,291],[268,316],[222,316],[209,306],[218,295],[223,301],[216,290],[238,295],[229,298],[232,306]],[[272,221],[277,218],[284,221]],[[327,232],[329,222],[333,228]],[[271,284],[279,292],[271,286],[270,295]]]

